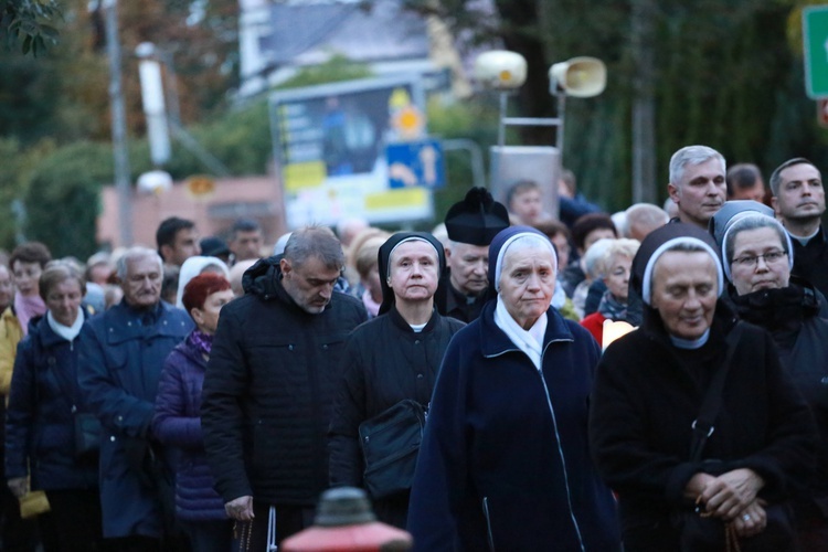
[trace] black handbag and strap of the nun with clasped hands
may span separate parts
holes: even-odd
[[[742,335],[742,322],[736,322],[728,337],[728,352],[724,364],[716,371],[702,401],[701,410],[693,421],[693,439],[690,446],[690,461],[701,460],[708,438],[715,429],[714,421],[722,405],[724,381],[728,378],[733,354]],[[694,509],[682,509],[671,516],[672,527],[679,531],[681,552],[729,551],[729,552],[785,552],[796,542],[793,511],[787,503],[765,507],[767,523],[761,533],[740,538],[735,529],[719,518],[705,514],[697,501]],[[795,549],[794,549],[795,550]]]

